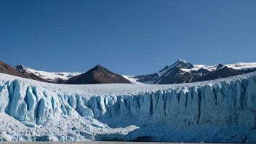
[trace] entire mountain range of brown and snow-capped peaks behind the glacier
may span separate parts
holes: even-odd
[[[121,76],[101,65],[96,65],[86,73],[54,73],[36,71],[21,64],[12,67],[0,61],[0,73],[57,84],[180,84],[221,79],[252,71],[256,71],[256,63],[193,65],[185,60],[177,60],[157,73],[140,76]]]

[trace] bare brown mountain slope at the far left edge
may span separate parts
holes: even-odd
[[[36,76],[34,73],[27,73],[26,71],[17,71],[11,65],[8,65],[7,63],[2,62],[1,60],[0,60],[0,73],[6,73],[12,76],[19,76],[22,78],[33,79],[36,81],[48,82],[47,80],[42,79],[39,76]]]

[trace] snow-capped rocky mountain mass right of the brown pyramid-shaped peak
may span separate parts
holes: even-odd
[[[237,76],[256,71],[256,63],[235,63],[231,65],[192,65],[185,60],[177,60],[161,71],[148,75],[129,77],[144,84],[180,84],[196,81]]]

